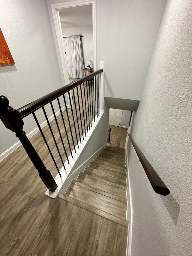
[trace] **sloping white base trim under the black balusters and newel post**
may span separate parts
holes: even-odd
[[[84,150],[85,145],[87,144],[89,138],[92,137],[92,134],[94,133],[94,130],[95,130],[96,126],[98,125],[98,123],[100,122],[100,120],[102,119],[103,116],[104,116],[103,112],[98,115],[98,118],[95,120],[95,123],[92,124],[92,127],[91,127],[91,125],[89,126],[88,129],[90,129],[90,130],[88,130],[89,132],[88,132],[88,134],[86,134],[86,137],[85,137],[85,134],[84,134],[84,140],[81,140],[82,144],[80,144],[80,142],[78,143],[79,148],[76,145],[76,147],[75,147],[76,153],[75,153],[75,150],[73,150],[73,152],[72,152],[73,158],[70,155],[68,157],[69,164],[66,161],[64,163],[65,170],[64,170],[64,167],[62,167],[61,170],[60,170],[61,177],[59,176],[59,174],[57,174],[57,176],[55,177],[55,182],[58,185],[55,192],[51,192],[47,189],[45,194],[48,197],[51,197],[51,198],[56,198],[57,197],[57,195],[58,195],[62,185],[64,184],[65,180],[67,179],[68,175],[75,169],[77,159],[82,155],[82,152]]]

